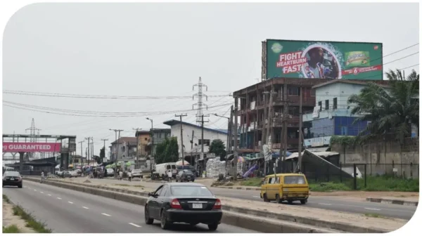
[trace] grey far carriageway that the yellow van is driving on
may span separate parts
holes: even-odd
[[[126,183],[133,185],[143,185],[146,188],[155,189],[161,183],[153,183],[146,181],[136,181],[129,183],[128,181],[116,181],[116,180],[93,180],[95,183],[101,183],[101,181],[107,181],[108,183]],[[252,201],[260,201],[260,191],[255,190],[233,190],[224,188],[210,188],[212,192],[218,197],[233,197],[238,199],[247,199]],[[285,203],[287,204],[287,203]],[[364,201],[352,201],[350,199],[342,199],[341,197],[316,197],[310,196],[307,204],[301,205],[300,203],[293,203],[298,207],[314,207],[319,209],[327,209],[333,211],[344,211],[354,214],[379,214],[381,216],[391,218],[402,218],[409,220],[415,213],[417,206],[403,206],[397,204],[382,204],[378,202],[364,202]]]

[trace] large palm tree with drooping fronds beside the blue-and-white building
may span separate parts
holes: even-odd
[[[412,71],[404,78],[399,70],[390,70],[386,77],[388,89],[371,83],[348,99],[354,106],[351,113],[362,115],[354,122],[371,122],[359,133],[361,142],[392,136],[403,143],[411,134],[411,124],[419,127],[419,74]]]

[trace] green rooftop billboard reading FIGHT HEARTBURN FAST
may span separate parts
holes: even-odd
[[[383,44],[267,39],[262,78],[383,79]]]

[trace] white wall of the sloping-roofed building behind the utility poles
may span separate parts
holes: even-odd
[[[193,131],[193,147],[195,147],[195,143],[199,145],[199,140],[201,138],[201,129],[196,126],[188,126],[184,124],[183,126],[183,144],[184,144],[184,152],[191,152],[191,140],[192,140],[192,131]],[[171,127],[172,129],[172,137],[177,137],[177,145],[179,146],[179,157],[181,157],[181,143],[180,143],[180,124],[175,124]],[[204,139],[212,140],[221,139],[224,145],[227,146],[227,135],[224,133],[219,133],[215,131],[209,131],[204,129]]]

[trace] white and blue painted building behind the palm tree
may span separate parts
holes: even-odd
[[[388,81],[371,81],[388,87]],[[354,120],[352,105],[347,99],[359,93],[368,81],[335,79],[313,86],[316,104],[313,112],[303,114],[303,133],[307,147],[321,147],[330,144],[331,136],[357,136],[366,128],[367,122]]]

